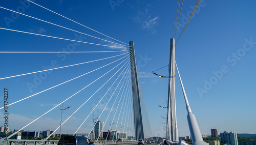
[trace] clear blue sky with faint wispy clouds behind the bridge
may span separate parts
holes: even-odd
[[[165,105],[168,82],[167,79],[154,76],[152,71],[166,66],[169,62],[169,42],[170,38],[174,37],[177,2],[36,0],[35,3],[119,41],[125,43],[129,43],[129,41],[134,42],[140,82],[151,129],[153,135],[164,136],[164,124],[162,122],[165,121],[161,118],[161,115],[164,116],[166,110],[158,107],[158,105]],[[184,2],[176,40],[180,36],[183,25],[190,14],[189,11],[191,11],[195,3],[196,1]],[[202,134],[210,134],[210,129],[212,128],[216,128],[219,133],[223,131],[255,133],[255,3],[252,1],[202,1],[176,45],[176,62],[189,104],[196,115]],[[110,38],[34,4],[28,5],[28,3],[25,3],[23,5],[19,1],[1,1],[0,6],[15,11],[22,11],[26,15],[112,41]],[[0,9],[0,16],[2,28],[110,45],[108,42],[88,36],[80,36],[78,33],[26,16],[13,15],[12,12],[4,9]],[[1,51],[63,51],[70,44],[73,44],[71,41],[2,29],[0,34]],[[113,42],[120,43],[114,40]],[[72,51],[113,50],[125,49],[80,43]],[[49,65],[61,67],[122,53],[124,52],[61,53],[59,55],[56,53],[1,53],[1,78],[39,71],[42,70],[42,67]],[[84,66],[54,70],[49,72],[45,79],[38,82],[36,88],[32,89],[28,88],[28,82],[33,83],[36,77],[33,74],[0,80],[0,85],[2,89],[7,87],[10,90],[9,102],[14,102],[102,65],[111,63],[119,58],[121,56]],[[73,95],[117,64],[112,64],[102,69],[102,71],[86,75],[70,83],[63,84],[59,88],[41,93],[10,106],[10,128],[12,130],[19,129],[27,125],[33,119],[36,119],[38,115],[60,103],[60,100]],[[115,71],[119,68],[116,68]],[[83,97],[90,97],[115,71],[102,77],[102,80],[95,82],[90,88],[83,90],[76,98],[74,97],[69,102],[66,102],[65,104],[70,105],[71,108],[65,110],[63,119],[67,119],[83,102]],[[163,75],[168,75],[167,72],[167,68],[157,71],[157,73]],[[111,80],[111,82],[113,83],[114,80]],[[73,133],[79,127],[92,110],[91,104],[97,102],[99,97],[103,96],[112,83],[106,84],[91,102],[88,102],[82,110],[79,110],[78,114],[75,114],[66,125],[63,125],[63,133]],[[178,78],[176,79],[176,84],[179,136],[185,136],[189,135],[189,129],[186,120],[185,102]],[[0,95],[2,100],[4,100],[3,94],[1,93]],[[106,111],[110,111],[110,108],[111,105],[107,107],[108,110]],[[25,130],[55,130],[60,120],[59,109],[60,107],[57,107],[44,116],[44,118],[25,128]],[[103,108],[98,108],[98,110],[100,109],[102,110]],[[112,111],[114,112],[115,109]],[[97,116],[100,112],[94,112],[94,114]],[[101,121],[105,119],[106,116],[103,115]],[[106,122],[108,127],[110,120]],[[3,124],[4,120],[1,119],[0,121]],[[116,121],[114,122],[116,123]],[[92,116],[88,118],[80,132],[89,132],[91,127]]]

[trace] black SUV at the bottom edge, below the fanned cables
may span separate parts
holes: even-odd
[[[62,135],[57,145],[94,145],[85,136]]]

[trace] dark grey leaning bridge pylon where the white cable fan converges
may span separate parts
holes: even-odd
[[[141,96],[140,92],[140,80],[137,72],[135,52],[133,41],[130,44],[130,63],[131,63],[131,76],[132,76],[132,90],[133,90],[133,111],[134,111],[134,128],[135,128],[135,139],[144,140],[144,130],[142,123],[142,113],[141,113]]]

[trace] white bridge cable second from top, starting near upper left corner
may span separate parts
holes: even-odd
[[[104,40],[104,39],[101,39],[101,38],[98,38],[98,37],[95,37],[95,36],[91,36],[89,34],[85,34],[85,33],[79,32],[79,31],[75,31],[75,30],[72,30],[71,28],[67,28],[65,26],[61,26],[61,25],[58,25],[58,24],[55,24],[55,23],[51,23],[51,22],[48,22],[48,21],[45,21],[45,20],[42,20],[42,19],[38,19],[38,18],[35,18],[35,17],[32,17],[32,16],[29,16],[29,15],[25,15],[23,13],[19,13],[19,12],[16,12],[16,11],[13,11],[13,10],[10,10],[10,9],[4,8],[4,7],[0,7],[0,8],[11,11],[11,12],[14,12],[14,13],[18,13],[20,15],[24,15],[24,16],[27,16],[27,17],[30,17],[30,18],[33,18],[33,19],[36,19],[36,20],[39,20],[39,21],[43,21],[43,22],[46,22],[46,23],[49,23],[49,24],[52,24],[52,25],[56,25],[56,26],[59,26],[59,27],[62,27],[62,28],[66,28],[67,30],[77,32],[77,33],[80,33],[80,34],[83,34],[83,35],[86,35],[86,36],[89,36],[89,37],[93,37],[93,38],[96,38],[96,39],[100,39],[100,40],[103,40],[103,41],[106,41],[106,42],[110,42],[110,43],[114,43],[114,44],[118,44],[118,45],[122,45],[122,46],[127,46],[127,45],[115,43],[115,42],[112,42],[112,41]]]

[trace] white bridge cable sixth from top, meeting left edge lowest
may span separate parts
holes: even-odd
[[[69,81],[71,81],[71,80],[74,80],[74,79],[76,79],[76,78],[79,78],[79,77],[81,77],[81,76],[87,75],[87,74],[89,74],[89,73],[91,73],[91,72],[94,72],[94,71],[96,71],[96,70],[98,70],[98,69],[101,69],[101,68],[103,68],[103,67],[105,67],[105,66],[108,66],[108,65],[110,65],[110,64],[113,64],[113,63],[115,63],[115,62],[117,62],[117,61],[123,59],[124,57],[126,57],[126,56],[128,56],[128,55],[129,55],[129,54],[127,54],[127,55],[121,57],[120,59],[118,59],[118,60],[116,60],[116,61],[113,61],[113,62],[111,62],[111,63],[109,63],[109,64],[106,64],[106,65],[104,65],[104,66],[102,66],[102,67],[99,67],[99,68],[97,68],[97,69],[95,69],[95,70],[92,70],[92,71],[90,71],[90,72],[88,72],[88,73],[82,74],[82,75],[77,76],[77,77],[75,77],[75,78],[72,78],[72,79],[70,79],[70,80],[68,80],[68,81],[62,82],[62,83],[57,84],[57,85],[55,85],[55,86],[52,86],[51,88],[48,88],[48,89],[46,89],[46,90],[44,90],[44,91],[38,92],[38,93],[33,94],[33,95],[31,95],[31,96],[28,96],[28,97],[26,97],[26,98],[20,99],[20,100],[18,100],[18,101],[16,101],[16,102],[13,102],[13,103],[11,103],[11,104],[8,104],[8,106],[10,106],[10,105],[12,105],[12,104],[15,104],[15,103],[17,103],[17,102],[23,101],[23,100],[25,100],[25,99],[28,99],[28,98],[30,98],[30,97],[33,97],[33,96],[35,96],[35,95],[38,95],[38,94],[40,94],[40,93],[42,93],[42,92],[46,92],[46,91],[48,91],[48,90],[51,90],[51,89],[55,88],[56,86],[59,86],[59,85],[64,84],[64,83],[67,83],[67,82],[69,82]],[[127,58],[129,58],[129,57],[127,57]],[[4,108],[4,107],[1,107],[0,109],[3,109],[3,108]]]

